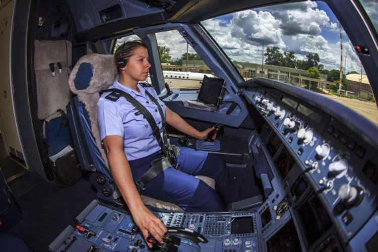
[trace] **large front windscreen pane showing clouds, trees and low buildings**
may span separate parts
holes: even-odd
[[[372,8],[376,1],[361,2],[376,20],[378,8]],[[378,124],[369,80],[347,34],[324,2],[244,10],[201,24],[244,80],[266,77],[306,88]]]

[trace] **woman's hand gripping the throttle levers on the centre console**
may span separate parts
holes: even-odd
[[[158,242],[163,243],[164,235],[168,230],[163,222],[146,208],[146,206],[143,206],[141,210],[133,213],[133,218],[135,223],[141,229],[149,247],[152,247],[152,243],[147,241],[149,234],[151,234]]]

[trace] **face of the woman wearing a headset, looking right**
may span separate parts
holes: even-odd
[[[148,51],[140,46],[134,50],[134,54],[129,58],[128,64],[121,70],[132,81],[138,82],[146,80],[150,67]]]

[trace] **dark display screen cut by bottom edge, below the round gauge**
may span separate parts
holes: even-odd
[[[267,241],[267,248],[268,252],[302,251],[292,219]]]

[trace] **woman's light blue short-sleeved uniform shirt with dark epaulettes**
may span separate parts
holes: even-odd
[[[147,96],[146,90],[158,100],[164,112],[164,117],[165,104],[159,99],[153,87],[145,88],[138,84],[140,90],[138,92],[123,86],[116,80],[109,88],[123,90],[143,104],[154,117],[160,133],[162,133],[162,119],[157,105]],[[103,93],[97,103],[97,118],[101,141],[106,136],[111,135],[123,137],[123,149],[128,160],[140,159],[159,151],[160,146],[143,114],[122,96],[116,101],[106,99],[105,96],[109,93]]]

